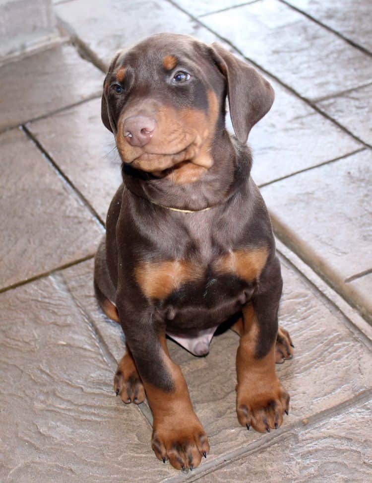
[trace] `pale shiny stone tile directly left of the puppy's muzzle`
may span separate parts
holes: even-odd
[[[102,220],[106,220],[122,177],[114,135],[101,121],[101,99],[30,123],[28,129]]]

